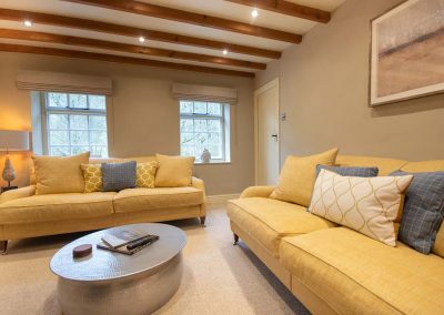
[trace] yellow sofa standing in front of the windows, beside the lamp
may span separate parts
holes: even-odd
[[[155,156],[134,159],[91,159],[90,163],[135,160],[148,162]],[[118,193],[65,193],[36,195],[31,185],[0,195],[0,242],[2,253],[14,238],[90,231],[110,226],[199,217],[206,215],[205,186],[193,177],[185,187],[130,189]]]

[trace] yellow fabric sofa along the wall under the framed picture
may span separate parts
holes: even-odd
[[[380,175],[444,171],[444,160],[337,156],[336,164],[379,166]],[[444,224],[424,255],[272,200],[273,189],[249,187],[230,201],[231,230],[313,314],[443,314]]]

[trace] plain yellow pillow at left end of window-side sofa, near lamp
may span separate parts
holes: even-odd
[[[84,180],[81,164],[87,164],[90,153],[73,156],[32,156],[36,170],[36,194],[82,193]]]

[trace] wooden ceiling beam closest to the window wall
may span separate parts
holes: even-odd
[[[46,55],[57,55],[57,57],[67,57],[67,58],[79,58],[79,59],[109,61],[109,62],[117,62],[117,63],[129,63],[129,64],[137,64],[137,65],[168,68],[168,69],[174,69],[174,70],[204,72],[204,73],[211,73],[211,74],[254,78],[253,72],[219,69],[219,68],[184,64],[184,63],[175,63],[175,62],[165,62],[165,61],[133,58],[133,57],[123,57],[123,55],[107,54],[107,53],[69,50],[69,49],[0,43],[0,51],[46,54]]]

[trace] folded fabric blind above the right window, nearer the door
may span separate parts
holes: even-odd
[[[229,88],[174,83],[172,94],[178,100],[238,103],[238,90]]]

